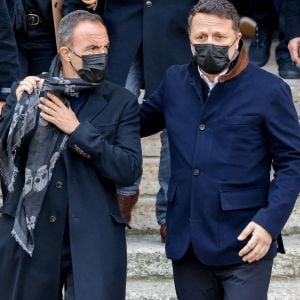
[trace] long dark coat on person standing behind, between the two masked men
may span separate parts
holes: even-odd
[[[65,13],[82,8],[65,0]],[[165,70],[191,58],[187,18],[195,0],[106,0],[99,12],[110,37],[108,79],[125,85],[131,63],[142,44],[145,93],[158,86]]]

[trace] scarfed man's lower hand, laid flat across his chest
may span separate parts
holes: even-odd
[[[47,93],[47,96],[49,99],[40,98],[41,117],[64,133],[71,134],[79,125],[75,113],[55,95]]]

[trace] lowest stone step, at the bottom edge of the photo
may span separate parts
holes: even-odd
[[[176,300],[172,279],[129,279],[127,300]],[[255,299],[255,298],[253,298]],[[272,278],[268,300],[299,300],[300,278]]]

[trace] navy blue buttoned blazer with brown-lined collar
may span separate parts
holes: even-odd
[[[241,263],[247,240],[237,237],[254,221],[273,236],[265,258],[273,257],[300,188],[300,129],[290,88],[248,64],[205,100],[206,92],[193,64],[172,66],[141,107],[143,136],[168,131],[167,256],[180,259],[192,243],[205,264]]]

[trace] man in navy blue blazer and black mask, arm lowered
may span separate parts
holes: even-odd
[[[170,67],[141,107],[143,136],[169,133],[166,254],[177,296],[267,299],[300,187],[291,91],[248,63],[227,0],[200,0],[188,31],[192,62]]]

